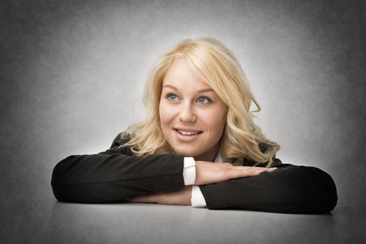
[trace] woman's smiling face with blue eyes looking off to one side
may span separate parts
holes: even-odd
[[[178,59],[163,79],[161,130],[177,155],[212,162],[226,123],[226,105]]]

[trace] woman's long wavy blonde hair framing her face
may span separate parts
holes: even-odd
[[[131,146],[133,153],[142,156],[172,153],[161,131],[159,101],[164,75],[177,59],[183,59],[191,70],[202,75],[228,107],[221,155],[233,165],[243,165],[247,159],[270,167],[279,145],[267,139],[254,123],[253,113],[261,107],[249,89],[247,77],[232,52],[219,40],[207,37],[182,40],[159,56],[145,85],[147,119],[127,128],[122,137],[129,135],[131,139],[122,146]],[[252,102],[255,111],[250,111]]]

